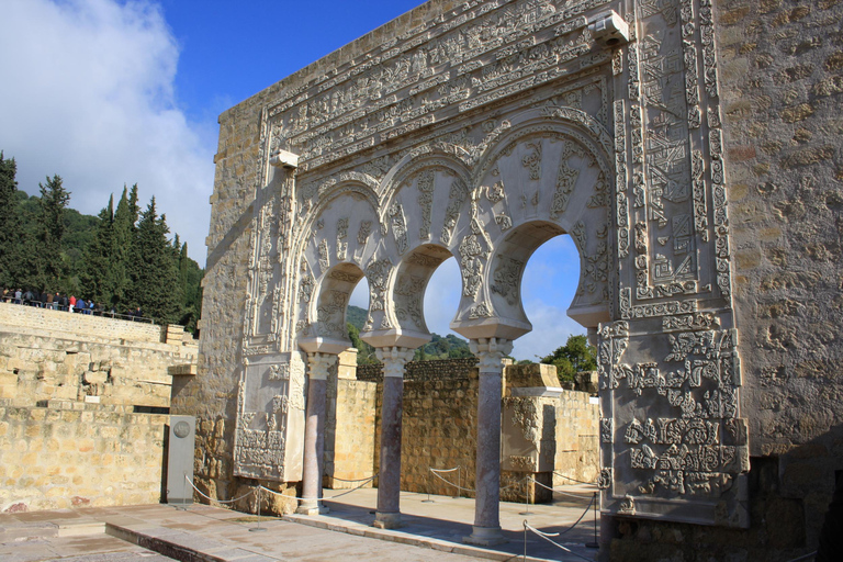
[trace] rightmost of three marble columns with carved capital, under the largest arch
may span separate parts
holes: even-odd
[[[506,339],[472,339],[471,352],[480,360],[477,392],[477,468],[474,526],[464,542],[493,546],[506,542],[501,532],[501,398],[502,359],[513,350]]]

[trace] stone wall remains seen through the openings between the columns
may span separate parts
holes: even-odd
[[[476,463],[476,412],[477,412],[477,370],[474,367],[475,359],[453,359],[447,361],[414,361],[407,363],[404,379],[404,414],[402,418],[403,441],[401,452],[402,480],[401,488],[409,492],[419,492],[438,495],[456,495],[457,488],[449,484],[459,484],[467,488],[462,495],[472,497],[470,492],[474,488],[474,473]],[[368,401],[375,401],[375,424],[374,432],[371,428],[353,427],[355,443],[364,440],[364,450],[373,451],[372,463],[376,472],[379,464],[379,436],[380,436],[380,407],[382,380],[380,374],[380,364],[358,367],[356,381],[357,393],[350,393],[355,396],[353,401],[344,403],[337,401],[339,418],[341,415],[348,415],[348,412],[355,412],[358,419],[363,416],[362,412],[357,409],[363,402],[361,396],[367,396]],[[518,366],[508,367],[505,370],[506,387],[504,397],[504,412],[506,417],[507,408],[512,408],[515,402],[526,403],[526,409],[532,414],[527,416],[510,416],[519,418],[520,425],[504,424],[504,441],[507,441],[508,432],[522,434],[525,429],[521,426],[529,427],[541,426],[540,434],[535,443],[528,445],[530,454],[536,456],[536,465],[522,467],[521,470],[503,470],[501,475],[502,498],[509,502],[522,502],[525,491],[529,494],[530,502],[544,502],[550,499],[550,494],[541,486],[529,485],[525,487],[522,483],[527,474],[532,475],[542,484],[550,486],[554,484],[554,469],[569,476],[570,479],[583,482],[595,482],[599,473],[598,464],[598,426],[599,408],[594,400],[585,392],[563,391],[557,389],[550,396],[516,396],[516,387],[524,389],[527,373],[531,371],[541,371],[546,375],[546,383],[555,381],[555,370],[549,366]],[[544,371],[548,371],[547,373]],[[548,373],[552,371],[552,379],[547,380]],[[340,380],[340,387],[349,387],[352,381]],[[539,387],[541,381],[536,382],[531,389]],[[532,384],[532,383],[531,383]],[[366,391],[361,391],[363,386]],[[375,390],[376,385],[376,390]],[[372,393],[375,392],[374,396]],[[543,392],[543,391],[542,391]],[[367,402],[364,407],[369,407]],[[544,415],[546,407],[550,408],[552,415]],[[330,408],[329,408],[330,409]],[[517,406],[516,406],[516,409]],[[525,409],[525,408],[520,408]],[[339,412],[345,411],[344,414]],[[339,426],[337,426],[339,427]],[[368,429],[368,430],[367,430]],[[329,428],[330,430],[330,428]],[[329,434],[330,435],[330,434]],[[339,432],[337,432],[339,436]],[[339,437],[337,437],[339,442]],[[529,439],[528,439],[529,440]],[[551,442],[547,442],[550,440]],[[371,443],[371,448],[369,446]],[[518,447],[524,443],[519,440]],[[546,458],[550,463],[539,465],[539,457],[542,451],[547,451]],[[521,451],[522,452],[522,451]],[[515,452],[513,452],[515,453]],[[326,449],[326,467],[331,465],[330,452]],[[508,458],[507,447],[504,447],[505,468]],[[522,457],[522,456],[521,456]],[[346,459],[344,459],[346,460]],[[441,479],[429,473],[429,468],[438,470],[451,470],[459,468],[458,471],[442,472]],[[330,474],[328,472],[328,474]],[[447,482],[446,482],[447,481]],[[555,485],[571,484],[571,480],[561,476],[555,477]],[[335,484],[334,487],[344,487]]]

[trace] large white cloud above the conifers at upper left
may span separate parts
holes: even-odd
[[[58,173],[95,214],[138,183],[204,265],[216,134],[173,101],[179,48],[157,4],[8,0],[0,18],[0,149],[37,193]]]

